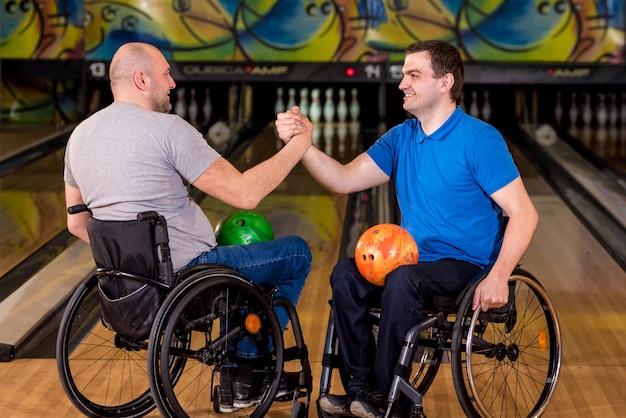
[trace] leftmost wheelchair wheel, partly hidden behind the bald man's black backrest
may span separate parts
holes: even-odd
[[[100,321],[98,282],[92,276],[74,292],[57,335],[61,385],[84,414],[140,417],[154,409],[144,341],[125,339]]]

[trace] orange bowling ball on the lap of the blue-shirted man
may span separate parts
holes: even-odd
[[[356,243],[354,259],[359,273],[376,285],[384,286],[387,274],[399,266],[417,264],[415,239],[395,224],[374,225]]]

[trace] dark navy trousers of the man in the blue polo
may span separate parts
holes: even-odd
[[[330,284],[341,355],[352,376],[348,392],[370,387],[388,393],[404,336],[423,318],[424,301],[436,294],[458,295],[481,271],[460,260],[422,262],[397,268],[384,287],[377,287],[361,276],[353,258],[340,260]],[[381,308],[376,347],[367,314],[372,306]]]

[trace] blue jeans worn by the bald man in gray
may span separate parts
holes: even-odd
[[[217,263],[233,268],[255,283],[268,283],[278,288],[276,297],[284,297],[294,306],[298,303],[304,282],[311,270],[311,250],[300,237],[286,236],[273,241],[248,245],[218,245],[191,260],[188,266]],[[282,328],[289,316],[276,309]],[[250,339],[240,341],[237,351],[242,357],[256,357]]]

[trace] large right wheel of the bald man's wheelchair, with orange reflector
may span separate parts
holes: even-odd
[[[181,340],[184,350],[178,348]],[[224,395],[229,388],[221,386],[233,382],[226,373],[237,376],[234,370],[258,364],[236,356],[238,341],[255,341],[267,350],[263,373],[256,380],[260,389],[249,405],[229,403]],[[177,379],[163,368],[162,359],[186,360]],[[258,371],[258,365],[254,367]],[[276,314],[263,292],[233,270],[212,268],[192,274],[159,309],[149,339],[148,373],[163,416],[262,417],[277,394],[282,370],[283,339]]]

